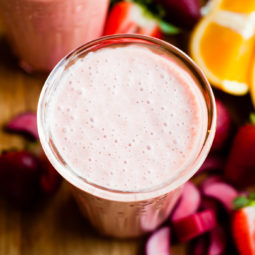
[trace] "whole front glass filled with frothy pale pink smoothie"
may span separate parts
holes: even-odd
[[[206,83],[205,100],[186,57],[139,38],[85,45],[56,67],[39,102],[47,156],[92,224],[118,237],[141,235],[168,217],[215,129],[211,90]]]

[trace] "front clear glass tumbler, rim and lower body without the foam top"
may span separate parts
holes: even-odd
[[[207,133],[199,153],[178,175],[162,183],[160,187],[141,192],[110,190],[89,183],[66,163],[54,144],[47,116],[49,103],[56,88],[61,84],[63,74],[80,57],[104,47],[141,44],[162,49],[174,56],[190,72],[202,92],[207,112]],[[181,103],[181,102],[180,102]],[[183,184],[199,169],[205,160],[215,133],[216,110],[212,89],[198,66],[182,51],[165,41],[138,35],[107,36],[89,42],[65,57],[52,71],[42,90],[38,104],[38,130],[44,151],[56,170],[71,184],[74,197],[81,211],[102,234],[114,237],[136,237],[157,228],[171,213],[179,198]]]

